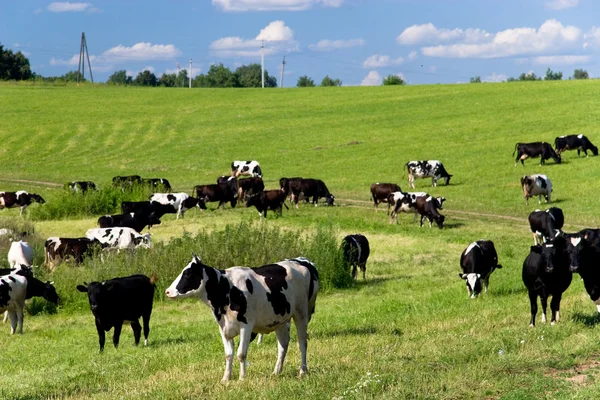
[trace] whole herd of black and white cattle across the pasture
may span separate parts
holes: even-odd
[[[587,150],[597,155],[597,148],[583,135],[556,138],[556,150],[548,143],[517,144],[517,160],[523,162],[528,157],[542,157],[542,163],[554,158],[560,163],[560,153],[577,149],[578,154]],[[516,164],[515,164],[516,165]],[[409,187],[414,188],[416,178],[432,178],[432,186],[438,180],[449,184],[452,175],[448,174],[440,161],[411,161],[406,163]],[[250,175],[239,179],[240,175]],[[45,261],[50,269],[56,267],[65,257],[81,262],[90,248],[111,247],[133,249],[150,247],[150,234],[141,231],[160,224],[160,218],[167,214],[177,214],[183,218],[185,212],[198,207],[206,209],[207,202],[219,202],[218,207],[237,201],[245,201],[246,207],[255,206],[260,217],[266,217],[267,210],[279,212],[286,199],[298,207],[303,195],[316,206],[320,198],[327,205],[333,205],[334,196],[325,183],[317,179],[281,178],[277,190],[264,190],[262,170],[256,161],[235,161],[230,176],[221,176],[216,184],[199,185],[193,189],[193,196],[187,193],[170,193],[171,186],[166,179],[143,179],[140,176],[113,178],[113,184],[123,190],[136,185],[163,188],[167,193],[155,193],[148,201],[123,202],[122,214],[102,216],[99,228],[89,229],[85,238],[51,237],[45,243]],[[550,201],[552,184],[545,175],[525,176],[521,179],[525,200],[535,195],[545,196]],[[91,181],[71,182],[66,187],[73,192],[96,190]],[[545,190],[545,191],[543,191]],[[412,213],[429,220],[430,227],[435,221],[443,228],[444,197],[433,197],[426,192],[403,192],[397,184],[375,183],[371,185],[371,196],[375,210],[380,203],[388,204],[390,223],[398,221],[398,214]],[[540,198],[541,201],[541,198]],[[44,203],[44,199],[25,191],[0,192],[0,209],[20,207],[21,213],[32,202]],[[562,293],[569,287],[572,273],[580,274],[585,288],[597,305],[600,318],[600,271],[596,272],[594,262],[600,258],[600,229],[584,229],[578,233],[562,231],[564,215],[558,208],[534,211],[529,216],[534,246],[523,263],[522,278],[529,292],[531,302],[530,326],[535,325],[537,297],[541,298],[542,321],[546,321],[547,299],[550,304],[551,322],[559,319]],[[2,234],[3,232],[0,232]],[[342,241],[345,262],[352,267],[352,277],[356,278],[360,268],[365,278],[366,262],[370,254],[367,238],[360,234],[348,235]],[[59,297],[52,282],[41,282],[33,277],[31,265],[33,251],[23,241],[14,241],[8,253],[10,269],[0,270],[0,312],[7,311],[11,320],[11,334],[23,329],[23,306],[25,299],[41,296],[55,304]],[[462,272],[459,277],[465,281],[469,297],[477,297],[482,290],[487,292],[491,273],[502,268],[494,243],[479,240],[468,245],[460,256]],[[155,290],[155,277],[133,275],[103,282],[90,282],[78,285],[77,290],[87,293],[92,314],[98,331],[100,351],[104,349],[105,332],[114,328],[113,344],[119,344],[124,322],[130,322],[135,344],[141,338],[142,318],[144,344],[148,344],[150,316]],[[316,266],[305,258],[294,258],[258,268],[233,267],[226,270],[205,265],[199,257],[192,260],[172,282],[165,292],[168,298],[198,297],[212,311],[223,340],[226,365],[223,380],[232,375],[233,339],[240,336],[237,358],[240,362],[240,379],[246,374],[246,355],[249,343],[259,334],[276,332],[278,358],[274,373],[280,373],[290,340],[290,321],[296,325],[301,353],[300,373],[307,372],[306,347],[307,325],[315,311],[319,290],[319,277]]]

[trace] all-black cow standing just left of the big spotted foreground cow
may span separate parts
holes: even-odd
[[[146,275],[131,275],[124,278],[114,278],[103,282],[90,282],[77,285],[77,290],[87,293],[90,309],[96,320],[100,352],[104,351],[105,335],[112,328],[113,344],[119,346],[121,328],[124,322],[131,323],[135,345],[140,343],[144,323],[144,345],[148,345],[150,333],[150,315],[154,301],[156,278]]]

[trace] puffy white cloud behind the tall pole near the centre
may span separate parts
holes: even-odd
[[[257,57],[260,55],[262,41],[265,41],[265,54],[282,51],[297,51],[294,32],[283,21],[273,21],[260,30],[254,39],[228,36],[210,44],[210,49],[219,57]]]

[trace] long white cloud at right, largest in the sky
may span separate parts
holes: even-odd
[[[515,28],[494,34],[487,43],[458,43],[423,47],[422,53],[429,57],[442,58],[497,58],[523,54],[556,52],[578,47],[581,30],[575,26],[564,26],[551,19],[539,29]]]

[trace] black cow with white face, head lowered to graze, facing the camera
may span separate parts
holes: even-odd
[[[482,284],[487,293],[490,275],[498,264],[498,253],[491,240],[478,240],[471,243],[460,255],[462,273],[458,276],[464,279],[469,297],[474,299],[481,293]]]

